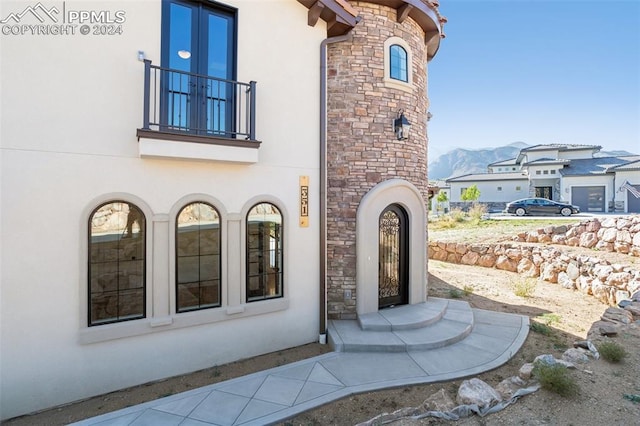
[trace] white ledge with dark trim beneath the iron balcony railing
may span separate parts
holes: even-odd
[[[196,136],[138,129],[141,158],[220,161],[253,164],[258,162],[260,141],[215,136]]]

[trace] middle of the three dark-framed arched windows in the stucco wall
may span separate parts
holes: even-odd
[[[176,220],[176,311],[220,306],[220,215],[211,205],[186,205]]]

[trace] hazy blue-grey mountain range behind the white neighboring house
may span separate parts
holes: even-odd
[[[516,158],[522,148],[530,145],[514,142],[497,148],[456,148],[429,162],[429,180],[448,179],[470,173],[487,173],[487,166],[496,161]],[[633,155],[627,151],[600,151],[597,157]]]

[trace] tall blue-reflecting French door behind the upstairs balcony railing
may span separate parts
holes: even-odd
[[[231,137],[235,10],[165,0],[162,13],[165,70],[161,109],[165,130]]]

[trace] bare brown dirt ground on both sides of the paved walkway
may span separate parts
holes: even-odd
[[[495,232],[491,233],[496,239]],[[459,238],[454,236],[452,238]],[[478,237],[481,238],[481,237]],[[481,238],[489,240],[490,237]],[[616,259],[613,259],[616,260]],[[617,259],[638,265],[628,256]],[[519,368],[541,354],[560,358],[573,342],[584,340],[595,321],[607,308],[590,296],[563,289],[557,284],[536,281],[530,297],[514,293],[517,274],[442,262],[429,262],[429,295],[459,297],[472,307],[528,315],[532,322],[548,324],[551,335],[530,332],[522,349],[507,364],[479,376],[495,386],[501,380],[517,375]],[[628,356],[620,364],[604,360],[581,364],[571,375],[579,385],[577,395],[563,398],[539,390],[521,398],[505,410],[484,418],[469,417],[457,422],[428,418],[402,420],[395,425],[635,425],[640,422],[640,403],[624,394],[640,394],[640,325],[628,326],[616,337],[589,335],[596,345],[610,339],[622,345]],[[54,408],[6,422],[7,425],[62,425],[128,407],[148,400],[172,395],[199,386],[249,374],[258,368],[269,368],[329,351],[326,345],[310,344],[279,351],[258,358],[213,367],[193,374],[154,382],[89,400]],[[282,425],[355,425],[383,412],[402,407],[419,406],[430,395],[444,389],[455,400],[462,380],[389,389],[354,395],[303,413]],[[4,423],[3,423],[4,424]]]

